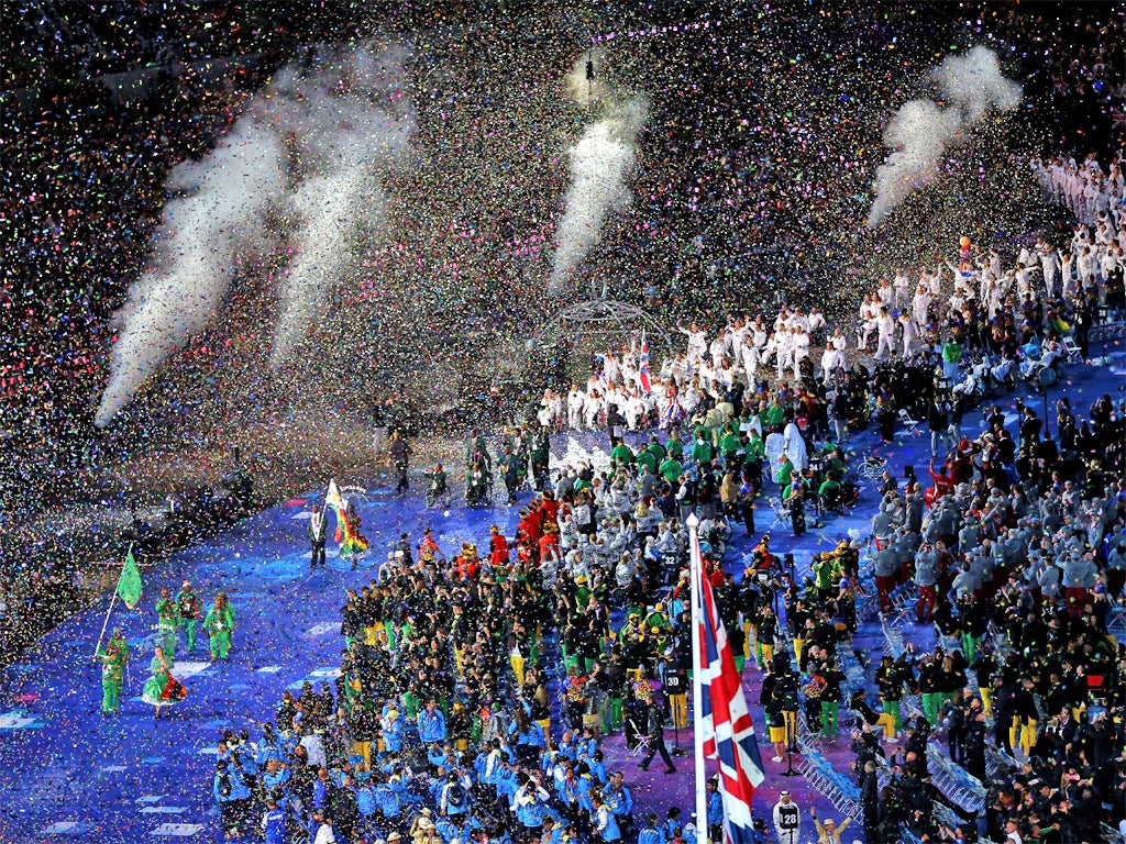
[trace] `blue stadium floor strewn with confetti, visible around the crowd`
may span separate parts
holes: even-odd
[[[1071,377],[1053,389],[1049,401],[1066,392],[1073,405],[1085,410],[1102,393],[1117,397],[1126,369],[1120,352],[1112,361],[1110,368],[1071,367]],[[1016,421],[1017,395],[1033,407],[1042,407],[1038,395],[1021,388],[999,401],[1010,422]],[[967,414],[967,434],[976,433],[978,420],[980,414]],[[582,436],[570,449],[566,436],[556,440],[558,457],[568,450],[574,454],[577,447],[596,446],[593,434]],[[607,447],[605,442],[597,445]],[[929,441],[924,433],[912,437],[901,430],[893,446],[874,445],[872,430],[859,436],[851,445],[858,452],[855,459],[860,452],[876,451],[890,459],[899,477],[906,464],[914,465],[920,476],[926,473]],[[777,490],[768,487],[767,493],[777,494]],[[262,512],[148,572],[138,610],[128,612],[118,604],[111,620],[111,626],[124,629],[132,647],[122,713],[116,718],[101,717],[100,673],[91,658],[108,599],[42,639],[0,675],[0,844],[222,839],[212,798],[216,739],[225,728],[245,727],[257,736],[253,721],[272,719],[285,689],[300,689],[305,680],[336,676],[345,590],[366,584],[375,575],[374,566],[403,531],[417,540],[422,527],[432,526],[447,551],[466,539],[485,547],[491,523],[501,526],[509,536],[515,532],[515,512],[508,508],[467,511],[455,503],[447,517],[425,511],[419,497],[413,494],[394,500],[385,486],[377,485],[369,497],[360,500],[358,509],[373,551],[364,564],[367,567],[358,572],[332,560],[328,572],[309,573],[304,499]],[[771,526],[772,513],[766,505],[759,509],[758,528],[772,529],[777,553],[796,551],[801,575],[812,551],[831,547],[839,538],[865,537],[875,501],[867,492],[848,515],[831,517],[825,527],[811,528],[801,540],[790,538],[788,527]],[[727,556],[729,567],[736,572],[742,571],[741,559],[758,539],[741,533],[736,532]],[[218,590],[231,594],[238,612],[234,648],[229,662],[212,664],[204,636],[190,655],[182,652],[181,639],[173,673],[190,693],[170,717],[155,721],[152,709],[140,698],[157,640],[153,605],[161,587],[175,591],[185,578],[195,584],[207,605]],[[929,629],[909,627],[908,635],[920,644],[931,639]],[[863,626],[857,641],[861,647],[878,646],[878,625]],[[752,704],[758,700],[758,672],[749,663],[744,685]],[[756,815],[768,816],[777,792],[788,788],[801,806],[816,805],[819,816],[833,817],[828,800],[802,778],[779,775],[786,763],[770,760],[761,713],[757,707],[752,710],[767,773],[756,797]],[[671,747],[671,730],[667,738]],[[681,746],[690,748],[689,736],[679,738]],[[624,770],[634,788],[636,816],[652,809],[663,817],[671,805],[680,806],[686,816],[692,810],[690,752],[678,760],[680,773],[663,776],[661,766],[649,774],[637,771],[636,760],[626,752],[620,736],[608,738],[606,748],[608,767]],[[847,770],[847,748],[848,739],[842,735],[825,749],[838,770]],[[803,824],[812,827],[807,819]],[[844,837],[861,838],[859,824]]]

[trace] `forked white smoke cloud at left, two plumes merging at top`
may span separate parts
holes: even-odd
[[[287,65],[209,155],[173,169],[167,188],[181,196],[164,206],[158,269],[134,284],[116,316],[120,334],[95,424],[108,425],[216,315],[239,254],[262,242],[271,208],[300,222],[272,348],[275,366],[285,360],[339,282],[351,239],[377,234],[386,217],[378,173],[403,156],[413,129],[405,57],[400,47],[324,48],[309,70]]]

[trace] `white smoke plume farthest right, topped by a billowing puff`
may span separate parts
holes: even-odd
[[[931,80],[948,105],[910,100],[887,124],[884,145],[894,152],[876,171],[869,228],[883,223],[914,190],[935,181],[946,151],[990,110],[1011,111],[1020,105],[1020,86],[1001,73],[997,55],[985,47],[947,56],[931,71]]]

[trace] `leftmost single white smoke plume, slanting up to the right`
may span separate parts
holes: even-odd
[[[164,205],[159,269],[133,285],[117,314],[120,334],[95,416],[99,428],[217,311],[240,243],[256,237],[270,200],[285,190],[282,143],[250,111],[206,159],[176,167],[167,188],[182,196]]]

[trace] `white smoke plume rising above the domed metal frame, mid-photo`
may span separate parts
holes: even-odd
[[[633,201],[626,177],[647,111],[649,104],[640,97],[610,102],[571,147],[571,187],[555,231],[553,291],[558,293],[568,273],[601,240],[606,215]]]

